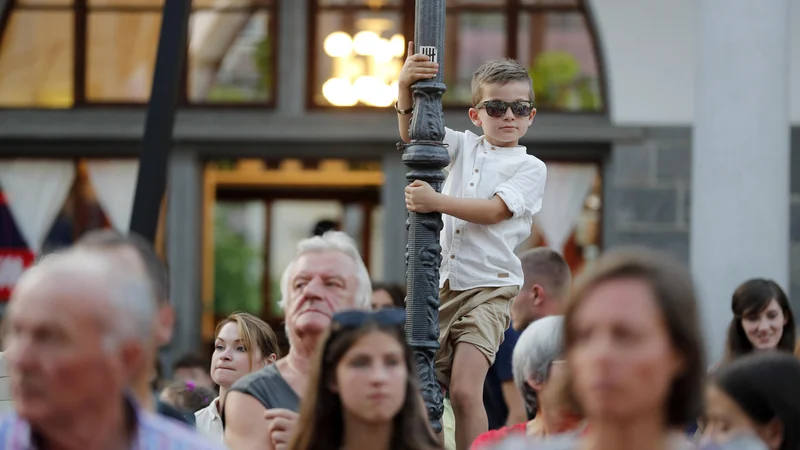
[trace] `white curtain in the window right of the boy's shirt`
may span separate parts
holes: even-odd
[[[542,210],[534,220],[553,250],[564,251],[596,176],[593,164],[547,165]]]

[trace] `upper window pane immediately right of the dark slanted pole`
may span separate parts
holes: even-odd
[[[189,27],[189,100],[269,102],[273,39],[268,11],[198,11]]]

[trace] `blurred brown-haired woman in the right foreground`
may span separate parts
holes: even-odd
[[[503,449],[676,450],[700,414],[705,374],[694,286],[671,258],[604,254],[576,281],[564,316],[569,392],[580,435]]]

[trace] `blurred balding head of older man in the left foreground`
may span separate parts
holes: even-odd
[[[15,408],[32,424],[103,409],[146,366],[152,289],[142,276],[111,270],[113,262],[90,252],[55,254],[15,286],[3,356]]]

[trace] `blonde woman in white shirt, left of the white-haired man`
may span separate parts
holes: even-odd
[[[247,313],[233,313],[217,324],[211,358],[211,379],[219,385],[219,397],[195,413],[197,430],[223,441],[222,411],[228,389],[243,376],[278,360],[278,338],[266,322]]]

